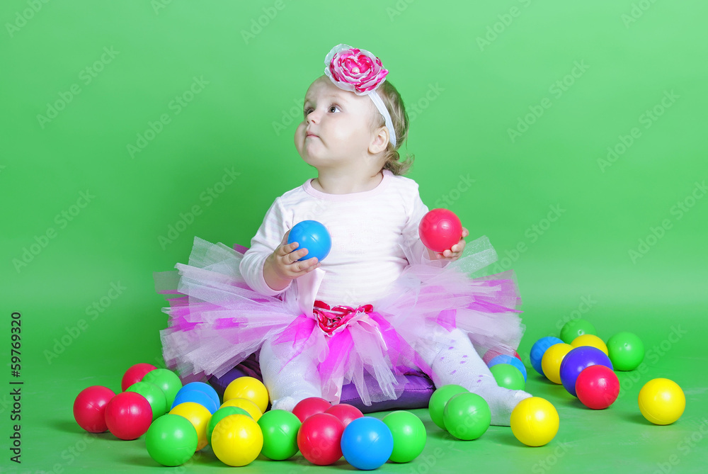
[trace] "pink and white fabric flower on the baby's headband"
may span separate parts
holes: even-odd
[[[367,50],[337,45],[324,58],[324,74],[340,89],[358,96],[375,91],[389,72]]]

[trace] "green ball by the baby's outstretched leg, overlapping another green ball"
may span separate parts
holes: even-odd
[[[489,404],[476,393],[459,393],[450,398],[442,414],[447,431],[469,441],[483,435],[491,423]]]

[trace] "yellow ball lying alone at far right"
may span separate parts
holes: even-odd
[[[672,424],[685,408],[683,390],[668,378],[649,380],[639,390],[639,411],[653,424]]]

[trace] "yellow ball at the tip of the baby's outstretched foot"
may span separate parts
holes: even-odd
[[[511,431],[526,446],[543,446],[558,433],[558,412],[540,397],[521,400],[511,412]]]

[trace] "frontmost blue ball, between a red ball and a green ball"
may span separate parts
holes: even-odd
[[[350,422],[342,434],[342,454],[357,469],[383,465],[394,451],[394,436],[380,419],[361,417]]]

